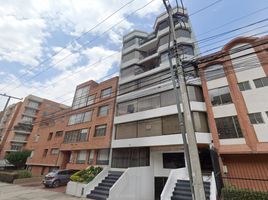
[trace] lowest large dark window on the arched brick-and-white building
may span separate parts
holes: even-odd
[[[237,116],[217,118],[215,121],[220,139],[243,137]]]

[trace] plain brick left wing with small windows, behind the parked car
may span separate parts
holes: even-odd
[[[26,165],[33,175],[43,175],[59,168],[59,149],[68,112],[70,108],[67,106],[46,99],[40,105],[26,145],[26,149],[32,151]]]

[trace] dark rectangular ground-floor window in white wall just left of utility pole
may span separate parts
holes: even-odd
[[[163,153],[163,168],[177,169],[185,167],[184,153]]]

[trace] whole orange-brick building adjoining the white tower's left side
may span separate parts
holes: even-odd
[[[27,166],[35,175],[55,168],[82,170],[109,164],[118,77],[76,87],[72,107],[58,113],[40,107],[41,124],[33,128]],[[50,114],[49,114],[50,113]]]

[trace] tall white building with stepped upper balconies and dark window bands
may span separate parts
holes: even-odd
[[[175,20],[174,23],[176,40],[182,49],[182,58],[187,62],[198,52],[198,47],[187,10],[183,12],[180,8],[173,12],[184,21],[179,23]],[[148,187],[153,187],[155,199],[160,198],[171,170],[185,167],[168,61],[168,43],[167,13],[156,18],[153,32],[134,30],[123,37],[112,138],[111,167],[150,166],[153,179]],[[172,62],[175,64],[175,60]],[[196,74],[188,74],[188,78],[192,77],[198,79]],[[204,171],[210,171],[208,149],[211,136],[201,84],[189,84],[188,92],[201,165]]]

